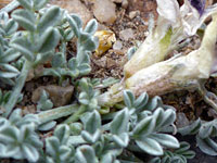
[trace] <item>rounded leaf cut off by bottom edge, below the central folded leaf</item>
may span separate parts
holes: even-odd
[[[75,154],[75,163],[97,163],[93,148],[87,145],[78,147]]]

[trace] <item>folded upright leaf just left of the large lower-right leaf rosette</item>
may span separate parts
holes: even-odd
[[[110,130],[112,134],[120,135],[128,131],[129,125],[129,111],[124,109],[119,111],[114,120],[111,122]]]

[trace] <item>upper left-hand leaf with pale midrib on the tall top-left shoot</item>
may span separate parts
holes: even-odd
[[[30,11],[17,9],[12,13],[12,17],[26,30],[34,32],[36,29],[36,17]]]

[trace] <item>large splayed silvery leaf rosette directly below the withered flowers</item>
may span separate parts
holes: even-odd
[[[131,122],[129,126],[125,125],[124,130],[119,130],[118,134],[129,133],[130,139],[135,140],[136,145],[143,150],[144,152],[152,155],[163,155],[163,148],[179,148],[178,140],[168,134],[163,134],[162,131],[174,124],[176,120],[176,112],[173,109],[163,108],[152,108],[152,112],[145,110],[145,105],[153,105],[154,101],[148,103],[148,95],[143,93],[138,99],[135,98],[133,93],[129,90],[124,92],[124,100],[126,109],[124,110],[127,113],[127,122]],[[123,115],[127,115],[124,114]],[[120,115],[119,115],[120,116]],[[117,120],[124,120],[118,117]],[[123,124],[126,124],[123,122]],[[117,125],[117,124],[116,124]],[[112,126],[116,126],[112,125]],[[111,128],[112,128],[111,126]],[[129,130],[127,130],[129,129]],[[114,131],[112,131],[114,133]],[[125,138],[127,140],[127,137]],[[119,140],[125,140],[119,137]]]

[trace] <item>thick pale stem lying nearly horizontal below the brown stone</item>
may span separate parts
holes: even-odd
[[[50,121],[53,121],[53,120],[58,120],[58,118],[63,117],[63,116],[71,115],[71,114],[79,111],[78,109],[79,109],[79,106],[77,104],[71,104],[71,105],[65,105],[65,106],[52,109],[52,110],[49,110],[49,111],[43,111],[43,112],[40,112],[37,115],[40,120],[40,123],[43,124],[43,123],[47,123],[47,122],[50,122]]]

